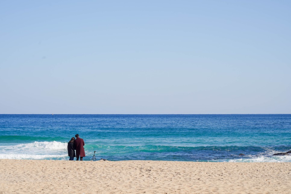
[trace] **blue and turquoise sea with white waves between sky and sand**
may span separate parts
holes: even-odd
[[[0,159],[290,162],[291,114],[0,114]],[[239,156],[239,154],[244,156]]]

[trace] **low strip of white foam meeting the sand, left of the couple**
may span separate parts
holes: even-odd
[[[17,160],[25,160],[25,159],[33,159],[33,160],[40,160],[40,159],[62,159],[66,157],[67,154],[64,155],[40,155],[40,154],[0,154],[0,159],[17,159]]]

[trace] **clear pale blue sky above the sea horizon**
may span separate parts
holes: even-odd
[[[0,114],[290,114],[291,1],[0,1]]]

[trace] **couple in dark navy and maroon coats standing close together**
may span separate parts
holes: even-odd
[[[75,135],[76,139],[74,137],[71,138],[71,140],[68,142],[68,155],[70,157],[69,160],[74,160],[74,157],[76,157],[76,161],[80,160],[83,161],[83,157],[85,157],[85,150],[84,150],[84,140],[79,137],[79,134]],[[75,154],[76,150],[76,154]]]

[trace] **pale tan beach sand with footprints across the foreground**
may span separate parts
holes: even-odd
[[[291,193],[291,163],[0,160],[0,193]]]

